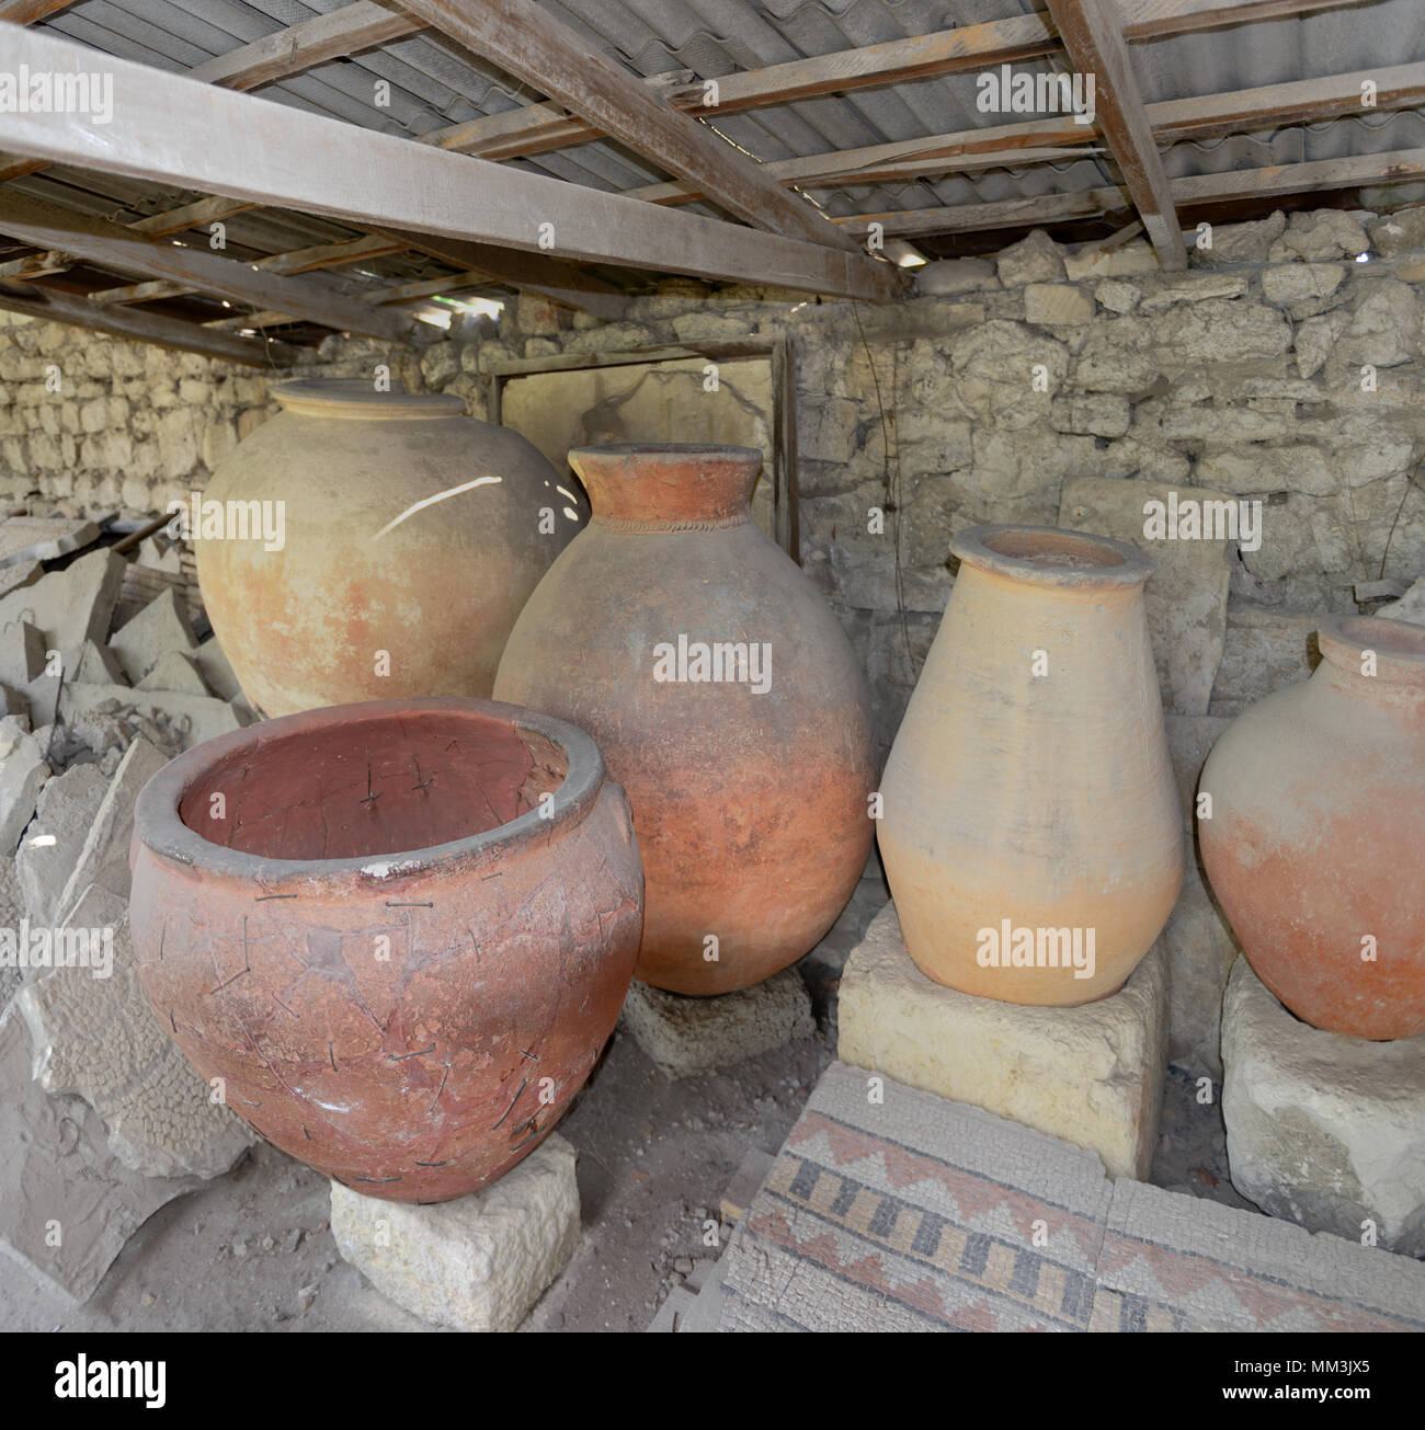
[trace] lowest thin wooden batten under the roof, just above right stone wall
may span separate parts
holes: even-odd
[[[1169,180],[1173,203],[1180,207],[1229,199],[1269,199],[1283,193],[1319,193],[1356,184],[1412,183],[1425,177],[1425,149],[1396,149],[1349,159],[1238,169],[1222,174],[1192,174]],[[1129,209],[1122,189],[1080,189],[1074,193],[1006,199],[996,203],[960,203],[949,207],[904,209],[897,213],[857,213],[836,222],[856,232],[878,223],[887,237],[931,237],[943,233],[983,233],[1027,225],[1099,219]]]

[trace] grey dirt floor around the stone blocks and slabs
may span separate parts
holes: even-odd
[[[578,1150],[584,1237],[525,1330],[642,1331],[698,1261],[744,1157],[775,1153],[833,1057],[836,980],[880,904],[863,884],[801,964],[821,1031],[738,1067],[670,1081],[620,1031],[561,1125]],[[1246,1207],[1228,1180],[1220,1108],[1172,1070],[1152,1180]],[[169,1203],[129,1241],[93,1298],[76,1307],[26,1267],[0,1260],[4,1330],[428,1330],[336,1251],[328,1183],[266,1144],[226,1177]]]

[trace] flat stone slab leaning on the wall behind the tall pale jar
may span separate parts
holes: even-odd
[[[1163,706],[1185,715],[1203,715],[1222,661],[1228,629],[1228,586],[1232,581],[1230,542],[1223,538],[1147,536],[1149,503],[1167,512],[1229,511],[1238,503],[1225,492],[1163,482],[1084,476],[1066,482],[1059,525],[1132,542],[1146,551],[1157,571],[1145,591],[1147,629],[1163,691]],[[1208,502],[1220,502],[1208,508]],[[1202,526],[1199,525],[1199,529]]]

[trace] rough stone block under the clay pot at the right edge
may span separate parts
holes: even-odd
[[[1312,1028],[1239,958],[1222,1062],[1243,1197],[1311,1231],[1425,1256],[1425,1035],[1371,1042]]]

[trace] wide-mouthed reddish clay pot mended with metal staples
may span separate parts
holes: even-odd
[[[155,1014],[268,1141],[372,1197],[445,1201],[534,1150],[614,1030],[641,908],[594,741],[488,701],[235,731],[137,801]]]

